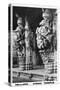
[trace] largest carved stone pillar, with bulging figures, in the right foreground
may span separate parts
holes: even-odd
[[[56,52],[56,24],[57,16],[55,9],[44,9],[42,12],[43,20],[40,22],[40,27],[37,27],[37,47],[42,57],[45,68],[48,73],[54,72],[54,62]],[[54,46],[55,45],[55,46]],[[56,63],[55,63],[56,66]]]

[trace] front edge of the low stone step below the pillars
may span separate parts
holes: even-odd
[[[41,75],[37,75],[37,74],[29,74],[29,73],[22,73],[22,72],[18,72],[18,73],[16,73],[15,72],[15,74],[16,74],[16,76],[14,76],[13,75],[13,78],[19,78],[19,79],[21,79],[21,80],[23,80],[23,82],[24,82],[24,80],[25,81],[53,81],[53,80],[56,80],[57,79],[57,77],[56,76],[53,76],[53,75],[43,75],[43,74],[41,74]]]

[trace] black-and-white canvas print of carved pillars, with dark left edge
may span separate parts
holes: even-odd
[[[57,81],[57,9],[8,7],[8,82]]]

